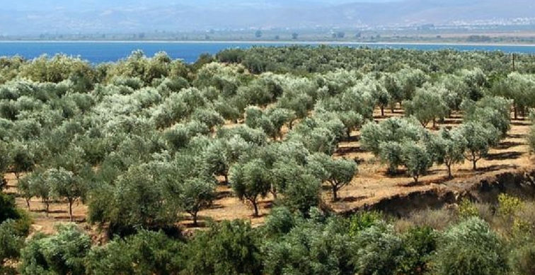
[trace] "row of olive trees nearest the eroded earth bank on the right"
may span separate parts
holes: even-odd
[[[389,165],[389,173],[396,173],[403,165],[408,175],[418,182],[433,163],[444,164],[451,178],[451,166],[471,161],[476,163],[487,156],[510,127],[509,100],[483,98],[477,103],[464,103],[465,122],[454,129],[432,133],[415,117],[393,117],[380,123],[370,122],[362,128],[361,143]]]

